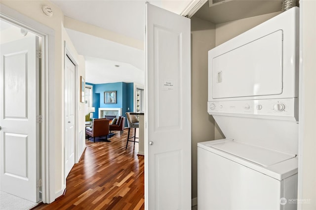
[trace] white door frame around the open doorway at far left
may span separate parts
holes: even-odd
[[[51,203],[55,200],[55,181],[51,175],[55,174],[55,111],[52,106],[54,102],[54,62],[48,62],[54,59],[55,32],[51,28],[1,4],[0,18],[9,23],[32,31],[32,33],[41,37],[42,57],[41,57],[41,77],[39,87],[40,93],[40,113],[42,122],[40,123],[40,177],[42,180],[41,200],[43,203]]]

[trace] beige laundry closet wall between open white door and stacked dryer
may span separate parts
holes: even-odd
[[[192,198],[197,198],[197,143],[214,140],[214,119],[207,113],[207,52],[215,47],[215,25],[191,19]],[[195,200],[193,200],[194,205]]]

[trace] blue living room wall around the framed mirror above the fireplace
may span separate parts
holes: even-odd
[[[105,84],[91,84],[93,86],[93,104],[95,107],[94,118],[101,118],[99,115],[99,108],[121,108],[122,116],[125,116],[125,112],[133,112],[134,106],[134,84],[133,83],[105,83]],[[104,91],[117,91],[117,103],[105,104],[104,103]],[[129,110],[128,110],[129,108]],[[125,120],[125,127],[127,127],[127,120]]]

